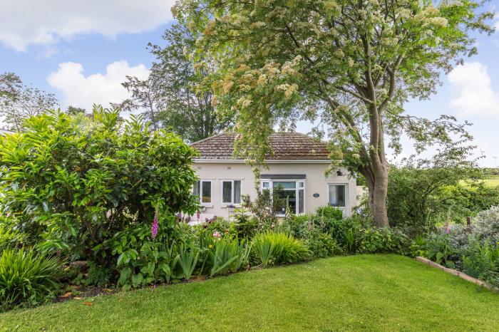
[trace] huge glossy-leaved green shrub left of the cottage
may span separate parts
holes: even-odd
[[[195,212],[195,150],[171,133],[151,132],[140,117],[50,111],[25,128],[0,141],[0,204],[20,231],[43,240],[43,250],[106,265],[112,260],[93,247],[116,232],[150,224],[155,210]]]

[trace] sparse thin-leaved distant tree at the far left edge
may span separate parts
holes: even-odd
[[[26,86],[14,73],[0,75],[0,116],[10,130],[24,129],[24,120],[56,105],[52,93]]]

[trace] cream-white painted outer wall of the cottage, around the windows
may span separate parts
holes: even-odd
[[[267,163],[269,169],[262,168],[261,174],[300,174],[306,175],[305,182],[305,203],[304,212],[312,213],[317,207],[328,203],[328,184],[347,185],[347,203],[346,216],[351,214],[351,209],[356,206],[356,180],[349,178],[348,172],[341,169],[342,176],[334,174],[325,176],[325,171],[329,162],[321,160],[307,163]],[[212,181],[212,203],[203,204],[206,209],[200,216],[200,221],[213,216],[230,217],[231,209],[227,204],[222,204],[222,180],[241,180],[241,193],[249,194],[252,200],[257,196],[257,190],[254,187],[254,176],[252,167],[243,162],[206,162],[195,161],[193,168],[200,180]],[[301,180],[300,180],[301,181]],[[313,194],[319,194],[319,197],[313,197]],[[193,217],[195,222],[196,217]]]

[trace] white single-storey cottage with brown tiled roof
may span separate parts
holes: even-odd
[[[340,168],[326,177],[331,160],[325,142],[301,133],[274,133],[269,138],[273,154],[265,160],[255,182],[252,167],[233,157],[237,133],[222,133],[192,144],[200,157],[194,169],[200,180],[194,193],[200,197],[200,220],[230,217],[241,206],[241,196],[257,196],[255,183],[262,190],[279,190],[296,214],[312,213],[331,204],[349,216],[356,205],[356,180]],[[284,212],[283,212],[284,214]]]

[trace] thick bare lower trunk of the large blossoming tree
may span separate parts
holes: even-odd
[[[386,194],[388,193],[388,167],[380,167],[366,177],[369,187],[369,209],[377,227],[390,227],[386,213]]]

